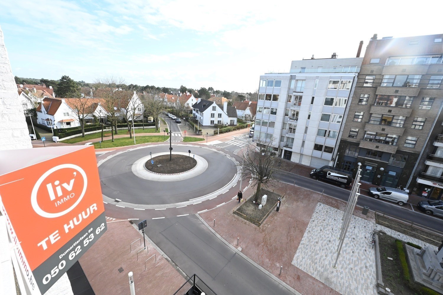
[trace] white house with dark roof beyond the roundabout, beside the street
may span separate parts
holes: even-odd
[[[202,126],[213,126],[214,124],[237,125],[237,111],[225,102],[219,106],[215,102],[198,98],[192,106],[192,114]]]

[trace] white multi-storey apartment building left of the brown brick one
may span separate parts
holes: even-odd
[[[303,165],[334,165],[363,58],[295,60],[260,76],[254,140]]]

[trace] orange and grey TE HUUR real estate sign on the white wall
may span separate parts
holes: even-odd
[[[93,146],[0,152],[0,209],[33,294],[45,293],[106,231]]]

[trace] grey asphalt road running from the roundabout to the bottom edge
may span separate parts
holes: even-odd
[[[198,275],[216,294],[293,294],[225,245],[195,215],[148,220],[147,228],[149,238],[176,265],[188,276]]]

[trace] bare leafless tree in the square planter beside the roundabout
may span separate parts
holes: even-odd
[[[281,159],[273,151],[273,140],[255,140],[257,146],[250,145],[243,154],[243,171],[241,177],[250,177],[252,184],[257,186],[254,201],[258,202],[261,186],[273,184],[276,180],[275,173],[280,169]]]

